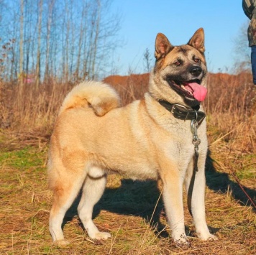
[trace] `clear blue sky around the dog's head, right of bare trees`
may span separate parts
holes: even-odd
[[[209,71],[230,72],[234,66],[234,40],[248,21],[242,0],[114,0],[111,11],[122,15],[119,37],[124,44],[114,57],[121,75],[145,73],[146,48],[153,65],[158,32],[173,45],[182,45],[200,27],[205,32]]]

